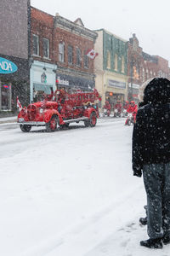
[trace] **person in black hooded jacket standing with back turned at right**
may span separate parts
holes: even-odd
[[[170,81],[152,79],[144,89],[143,107],[133,126],[133,175],[141,177],[147,195],[148,240],[161,248],[170,243]]]

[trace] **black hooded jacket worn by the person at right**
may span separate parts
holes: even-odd
[[[170,81],[152,79],[142,105],[133,126],[133,175],[139,177],[144,165],[170,161]]]

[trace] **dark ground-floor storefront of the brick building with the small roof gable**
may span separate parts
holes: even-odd
[[[92,90],[95,87],[94,79],[85,79],[78,76],[71,76],[57,73],[57,88],[66,90]]]

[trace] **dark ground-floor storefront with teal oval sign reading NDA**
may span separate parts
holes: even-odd
[[[0,113],[16,111],[16,97],[26,105],[28,102],[28,60],[0,55]]]

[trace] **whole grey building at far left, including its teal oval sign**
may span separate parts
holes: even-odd
[[[29,101],[30,2],[1,1],[0,115],[16,111],[16,97]],[[20,22],[22,20],[22,22]]]

